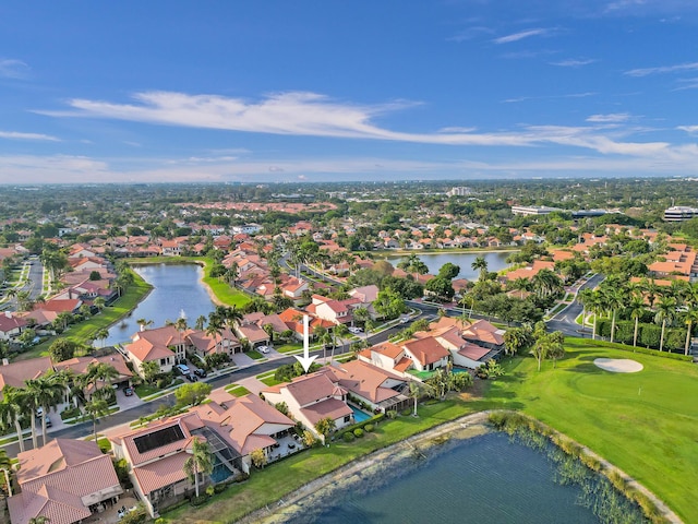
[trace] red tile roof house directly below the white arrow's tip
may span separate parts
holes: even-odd
[[[347,404],[348,391],[323,372],[298,377],[262,393],[269,404],[285,402],[289,414],[317,438],[323,437],[315,425],[323,418],[332,418],[336,429],[353,424],[353,410]]]

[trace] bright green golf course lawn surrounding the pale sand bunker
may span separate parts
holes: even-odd
[[[535,370],[532,358],[505,366],[486,398],[522,409],[609,460],[636,478],[684,522],[698,522],[698,368],[684,361],[607,347],[588,340],[566,343],[567,357]],[[631,348],[630,348],[631,349]],[[595,358],[630,358],[638,373],[611,373]]]

